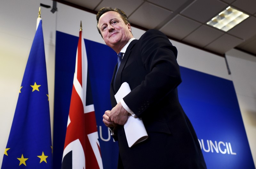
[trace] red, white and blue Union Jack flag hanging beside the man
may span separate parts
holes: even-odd
[[[76,52],[76,69],[61,168],[103,168],[92,98],[86,97],[88,62],[82,31]],[[91,85],[88,85],[91,86]],[[91,95],[90,95],[91,96]],[[89,100],[89,101],[88,101]]]

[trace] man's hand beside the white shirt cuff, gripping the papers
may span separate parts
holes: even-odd
[[[112,108],[108,117],[110,118],[112,124],[119,124],[123,126],[128,119],[128,115],[129,113],[124,109],[122,104],[119,102],[114,108]]]

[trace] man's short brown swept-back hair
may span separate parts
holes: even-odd
[[[122,10],[120,10],[120,9],[118,9],[118,8],[115,8],[115,9],[114,9],[114,8],[111,8],[111,7],[103,7],[103,8],[100,9],[100,11],[99,11],[99,12],[97,13],[97,15],[96,15],[96,19],[97,19],[97,29],[98,29],[98,31],[99,31],[101,37],[102,37],[102,34],[101,34],[100,28],[99,28],[99,19],[100,19],[101,15],[103,15],[104,13],[109,12],[109,11],[115,11],[115,12],[119,13],[120,16],[122,17],[122,19],[123,19],[123,21],[124,21],[125,24],[131,24],[130,21],[129,21],[129,19],[128,19],[127,16],[126,16],[126,14],[124,13],[124,11],[122,11]],[[103,38],[103,37],[102,37],[102,38]]]

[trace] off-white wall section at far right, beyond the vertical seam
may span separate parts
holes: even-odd
[[[256,57],[232,49],[226,58],[256,166]]]

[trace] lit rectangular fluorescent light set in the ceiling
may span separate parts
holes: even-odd
[[[227,32],[248,17],[249,15],[229,6],[207,22],[207,24]]]

